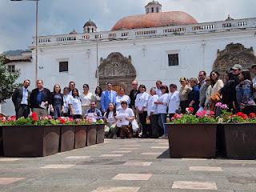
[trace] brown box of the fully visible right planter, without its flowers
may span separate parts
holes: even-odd
[[[170,158],[215,158],[217,124],[166,124]]]

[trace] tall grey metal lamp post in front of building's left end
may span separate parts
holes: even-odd
[[[35,81],[38,80],[38,1],[39,0],[10,0],[11,2],[30,1],[36,2],[36,19],[35,19]]]

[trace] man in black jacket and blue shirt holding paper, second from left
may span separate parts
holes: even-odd
[[[30,96],[31,110],[38,115],[38,118],[48,115],[48,106],[51,104],[50,97],[50,90],[43,87],[42,80],[38,80],[37,88],[32,90]]]

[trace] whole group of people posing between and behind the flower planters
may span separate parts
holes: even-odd
[[[256,64],[251,69],[256,75]],[[92,94],[88,84],[83,85],[82,93],[74,82],[64,87],[63,92],[56,84],[50,92],[42,80],[38,80],[37,88],[30,92],[30,80],[26,79],[23,86],[14,91],[12,100],[17,118],[27,118],[31,109],[38,117],[50,113],[54,118],[103,119],[107,138],[167,138],[167,116],[184,114],[187,107],[193,107],[195,114],[199,110],[215,110],[215,104],[222,102],[234,113],[255,113],[256,77],[252,79],[249,70],[242,70],[242,66],[235,64],[226,71],[223,80],[216,70],[211,71],[210,76],[202,70],[198,78],[180,78],[179,91],[175,84],[166,86],[157,81],[147,93],[145,85],[138,86],[134,81],[130,94],[126,95],[124,88],[118,93],[112,90],[110,82],[106,84],[106,90],[97,86]],[[150,120],[150,126],[147,120]]]

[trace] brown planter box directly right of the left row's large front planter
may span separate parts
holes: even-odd
[[[59,152],[74,150],[74,125],[60,126]]]

